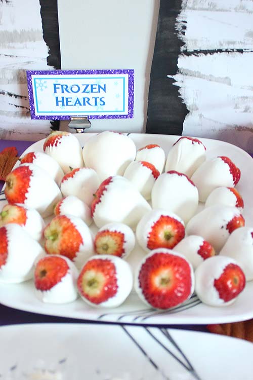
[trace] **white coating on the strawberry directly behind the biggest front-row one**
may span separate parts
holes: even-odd
[[[155,209],[147,212],[145,215],[143,215],[136,228],[136,239],[142,247],[142,249],[144,249],[144,251],[146,252],[150,252],[150,249],[147,247],[147,244],[151,229],[154,223],[161,217],[161,215],[171,216],[179,220],[184,225],[184,221],[178,215],[171,211],[167,211],[164,209]]]

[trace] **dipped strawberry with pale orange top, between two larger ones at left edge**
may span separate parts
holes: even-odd
[[[45,222],[33,208],[21,204],[5,205],[0,212],[0,227],[9,223],[21,225],[34,240],[43,237]]]

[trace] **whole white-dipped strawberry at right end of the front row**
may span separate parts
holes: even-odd
[[[195,291],[210,306],[231,305],[245,287],[245,275],[238,263],[226,256],[203,261],[195,271]]]

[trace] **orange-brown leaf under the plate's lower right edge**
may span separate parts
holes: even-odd
[[[253,343],[253,319],[243,322],[207,325],[207,329],[215,334],[234,336]]]

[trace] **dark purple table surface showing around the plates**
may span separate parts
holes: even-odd
[[[9,146],[15,146],[18,150],[18,156],[21,156],[23,151],[28,148],[33,141],[17,141],[17,140],[0,140],[0,152]],[[4,182],[0,181],[0,189]],[[22,310],[9,308],[0,304],[0,326],[23,323],[91,323],[91,321],[78,320],[64,317],[54,317],[43,314],[29,313]],[[99,324],[111,324],[109,322],[94,322]],[[208,332],[205,325],[163,325],[170,328],[187,329],[195,331]],[[162,327],[159,325],[159,327]]]

